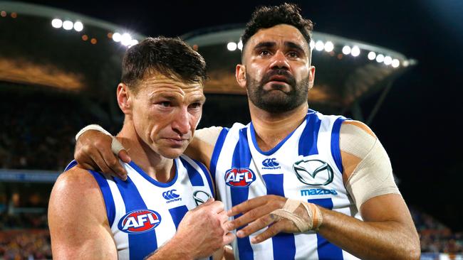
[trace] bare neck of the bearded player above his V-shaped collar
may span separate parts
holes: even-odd
[[[256,141],[262,151],[269,151],[286,138],[306,118],[308,104],[279,114],[269,113],[249,102]]]

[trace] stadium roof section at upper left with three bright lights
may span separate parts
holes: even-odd
[[[127,47],[114,33],[145,38],[78,13],[9,1],[0,1],[0,32],[0,81],[71,92],[117,84]]]

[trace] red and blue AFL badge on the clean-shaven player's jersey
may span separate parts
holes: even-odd
[[[125,233],[145,233],[155,229],[161,222],[161,215],[154,210],[133,210],[125,214],[118,229]]]

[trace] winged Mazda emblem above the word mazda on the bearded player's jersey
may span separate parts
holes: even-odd
[[[303,158],[293,164],[294,172],[301,183],[328,185],[333,181],[333,168],[319,159]]]

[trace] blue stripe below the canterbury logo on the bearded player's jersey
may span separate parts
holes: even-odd
[[[266,174],[264,178],[267,195],[279,195],[285,197],[283,190],[283,173]],[[294,259],[296,256],[296,242],[294,234],[279,233],[271,238],[274,251],[274,260],[277,259]]]

